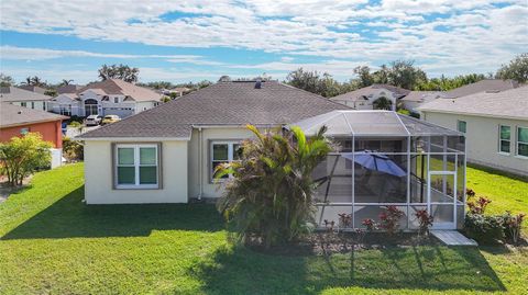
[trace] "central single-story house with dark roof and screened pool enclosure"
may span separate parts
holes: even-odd
[[[218,82],[80,135],[86,202],[217,198],[222,190],[213,170],[237,160],[240,143],[252,138],[246,124],[261,129],[299,125],[308,135],[329,126],[328,136],[343,149],[330,155],[317,171],[331,185],[330,194],[322,190],[319,196],[319,205],[328,207],[324,218],[337,219],[341,212],[336,207],[341,205],[350,214],[371,216],[397,204],[405,209],[408,228],[416,224],[411,211],[420,208],[438,213],[438,227],[455,228],[457,220],[462,220],[463,134],[395,112],[352,111],[276,81]],[[365,152],[391,161],[393,172],[372,171],[355,161]],[[358,184],[358,190],[346,182]],[[328,217],[330,212],[333,215]]]

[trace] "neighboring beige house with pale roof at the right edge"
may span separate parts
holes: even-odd
[[[528,175],[528,87],[438,99],[418,110],[427,122],[466,134],[468,161]]]

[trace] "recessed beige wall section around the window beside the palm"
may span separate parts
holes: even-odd
[[[212,183],[210,175],[210,143],[212,140],[238,141],[252,136],[253,134],[245,127],[201,128],[200,152],[200,131],[195,128],[189,141],[189,197],[199,196],[200,182],[202,183],[202,197],[219,197],[222,193],[221,185]]]

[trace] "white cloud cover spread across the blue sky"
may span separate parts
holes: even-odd
[[[526,0],[28,0],[24,5],[3,0],[0,5],[0,24],[7,31],[173,47],[265,50],[287,55],[282,60],[287,65],[293,61],[287,58],[298,55],[345,59],[354,65],[410,58],[431,69],[449,65],[466,72],[487,71],[528,47]],[[180,18],[162,18],[174,12]],[[7,56],[35,59],[31,52],[8,49]],[[3,53],[2,47],[2,58]],[[145,57],[50,49],[34,55],[41,59]],[[195,56],[152,58],[221,66]]]

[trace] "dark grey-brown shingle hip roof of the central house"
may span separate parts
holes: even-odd
[[[276,126],[350,107],[276,81],[218,82],[80,136],[189,138],[191,127]]]

